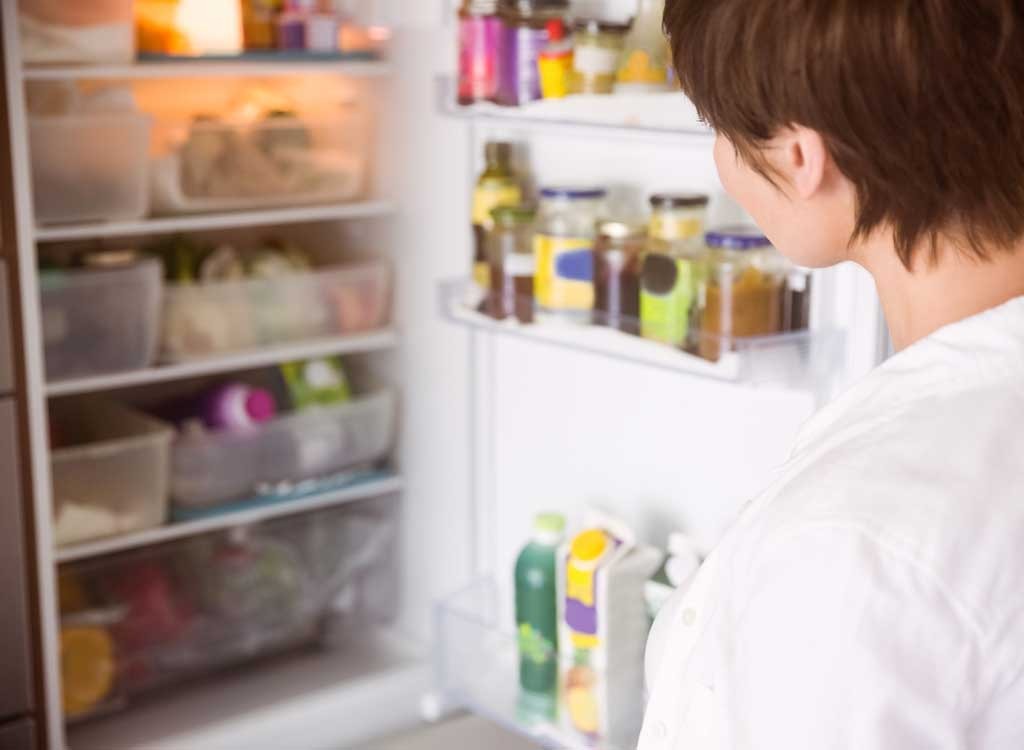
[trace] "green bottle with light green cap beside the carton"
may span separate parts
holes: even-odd
[[[558,547],[565,518],[543,513],[515,564],[515,620],[519,634],[519,684],[546,694],[558,683]]]

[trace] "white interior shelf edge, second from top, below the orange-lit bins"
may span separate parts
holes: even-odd
[[[150,237],[189,232],[237,230],[248,226],[281,226],[321,221],[376,218],[394,213],[388,201],[358,201],[326,205],[295,206],[256,211],[227,211],[183,216],[143,218],[135,221],[97,221],[89,223],[39,226],[37,242],[94,240],[113,237]]]

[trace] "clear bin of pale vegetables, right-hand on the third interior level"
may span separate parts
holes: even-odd
[[[169,285],[163,355],[200,359],[275,343],[372,331],[387,323],[387,263],[331,266],[271,281]]]

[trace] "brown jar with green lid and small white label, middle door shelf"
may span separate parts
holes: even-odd
[[[487,315],[503,321],[534,321],[534,221],[531,206],[500,206],[492,211],[487,237],[490,291]]]

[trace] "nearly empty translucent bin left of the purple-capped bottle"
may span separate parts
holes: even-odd
[[[53,403],[50,423],[57,545],[164,523],[173,429],[99,400]]]

